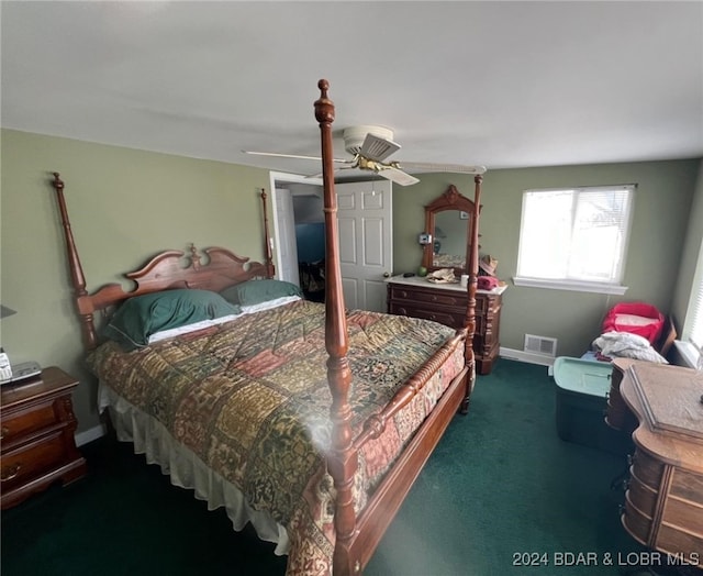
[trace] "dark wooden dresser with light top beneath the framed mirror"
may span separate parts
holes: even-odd
[[[425,278],[393,276],[388,285],[388,312],[434,320],[461,328],[466,320],[468,295],[458,284],[431,284]],[[500,348],[501,308],[506,287],[476,291],[476,334],[473,354],[478,374],[490,374]]]

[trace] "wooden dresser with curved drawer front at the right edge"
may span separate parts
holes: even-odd
[[[703,375],[635,362],[620,395],[638,421],[623,525],[651,550],[703,568]]]

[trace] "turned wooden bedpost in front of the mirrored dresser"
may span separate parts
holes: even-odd
[[[477,174],[473,177],[473,211],[471,212],[471,250],[469,251],[469,283],[467,285],[468,306],[466,308],[466,344],[465,358],[469,368],[466,380],[466,398],[461,402],[461,413],[469,411],[469,401],[476,383],[476,355],[473,354],[473,334],[476,333],[476,289],[478,287],[479,275],[479,214],[481,212],[481,182],[483,177]]]

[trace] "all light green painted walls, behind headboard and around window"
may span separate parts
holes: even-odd
[[[59,171],[66,182],[74,236],[88,289],[94,290],[122,281],[115,273],[134,269],[146,256],[166,248],[187,250],[191,242],[263,259],[258,192],[268,191],[268,170],[10,130],[2,130],[0,151],[0,301],[19,312],[0,323],[0,342],[14,363],[36,359],[43,366],[62,366],[80,379],[74,403],[79,431],[86,431],[100,422],[97,387],[81,361],[51,173]],[[512,286],[524,189],[636,182],[625,270],[629,290],[618,300],[646,300],[671,311],[680,322],[703,236],[702,165],[696,159],[488,171],[481,244],[483,253],[499,259],[499,276],[509,281],[502,346],[522,350],[524,334],[531,333],[558,337],[560,355],[580,355],[616,301]],[[415,186],[394,188],[397,273],[415,270],[421,262],[417,234],[424,228],[426,203],[449,184],[473,197],[471,176],[421,178]]]

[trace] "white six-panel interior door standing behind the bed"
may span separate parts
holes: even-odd
[[[345,182],[335,189],[345,304],[384,312],[384,274],[393,269],[391,182]]]

